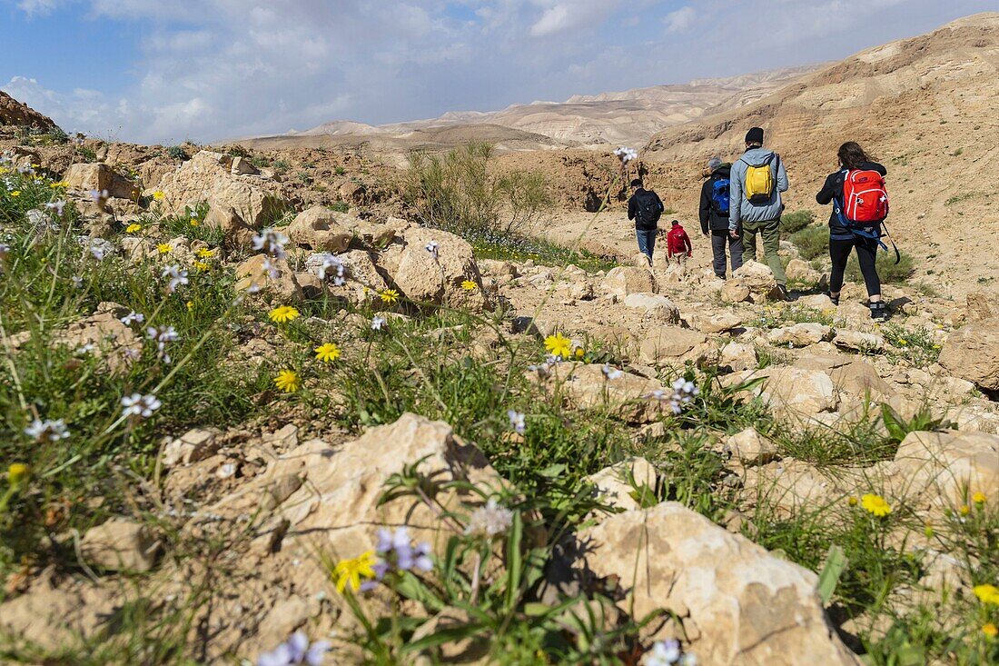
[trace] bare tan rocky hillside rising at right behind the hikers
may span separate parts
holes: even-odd
[[[929,34],[869,49],[748,106],[654,136],[642,154],[693,175],[711,155],[739,154],[759,125],[791,178],[792,210],[812,208],[836,168],[836,148],[861,143],[888,168],[889,228],[933,260],[932,281],[995,285],[999,260],[976,239],[999,233],[987,169],[999,155],[999,14],[978,14]],[[694,192],[675,192],[685,209]],[[828,215],[828,212],[824,213]]]

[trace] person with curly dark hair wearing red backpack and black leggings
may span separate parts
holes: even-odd
[[[881,223],[888,215],[888,194],[884,176],[888,170],[873,161],[855,141],[839,147],[839,171],[826,176],[815,201],[823,206],[832,202],[829,215],[829,298],[839,305],[843,271],[850,250],[856,249],[860,272],[867,287],[867,306],[871,319],[884,321],[888,310],[881,300],[881,279],[875,259],[881,244]],[[866,195],[866,196],[865,196]]]

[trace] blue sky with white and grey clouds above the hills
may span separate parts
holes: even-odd
[[[994,0],[0,0],[0,89],[176,143],[845,57]]]

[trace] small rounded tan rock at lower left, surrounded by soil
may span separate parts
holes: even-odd
[[[159,550],[160,542],[145,525],[124,518],[90,528],[80,541],[83,559],[108,571],[149,571]]]

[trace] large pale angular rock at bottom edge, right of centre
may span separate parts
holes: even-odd
[[[594,574],[619,577],[620,608],[682,618],[700,663],[859,664],[826,622],[814,573],[681,504],[610,516],[579,541]]]

